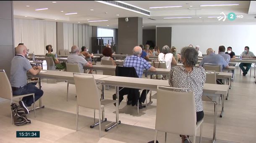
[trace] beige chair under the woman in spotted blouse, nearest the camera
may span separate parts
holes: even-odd
[[[202,135],[202,123],[204,119],[196,125],[196,105],[193,92],[175,92],[174,90],[189,90],[172,87],[157,87],[157,116],[155,125],[155,138],[157,132],[165,132],[165,142],[167,133],[193,136],[192,143],[196,142],[196,129],[200,128],[200,143]],[[192,90],[192,89],[190,89]]]

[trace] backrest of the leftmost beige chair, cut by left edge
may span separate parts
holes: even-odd
[[[0,70],[0,79],[1,79],[0,97],[4,98],[4,99],[12,100],[12,96],[13,96],[12,87],[11,87],[10,81],[5,73],[5,70],[3,70],[3,69]]]

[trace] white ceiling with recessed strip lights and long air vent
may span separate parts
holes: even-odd
[[[170,25],[226,25],[226,24],[256,24],[256,3],[254,1],[122,1],[139,8],[149,10],[151,16],[142,15],[129,10],[116,8],[111,5],[98,3],[95,1],[13,1],[14,18],[34,19],[42,18],[48,21],[59,21],[67,23],[87,23],[91,26],[102,26],[118,28],[118,18],[142,17],[144,28],[150,29],[155,26]],[[200,7],[199,5],[212,4],[239,4],[238,6],[217,6]],[[29,5],[29,7],[26,7]],[[181,8],[149,9],[157,6],[177,6]],[[189,7],[193,5],[193,7]],[[48,10],[35,11],[37,8],[49,8]],[[191,9],[189,9],[191,8]],[[91,11],[90,9],[94,9]],[[63,10],[64,12],[60,12]],[[65,13],[76,12],[75,15],[65,15]],[[221,16],[230,12],[236,15],[243,15],[234,21],[217,20],[217,18],[207,18],[208,16]],[[249,14],[248,14],[249,13]],[[116,16],[119,14],[119,16]],[[28,16],[28,17],[24,17]],[[165,17],[192,17],[191,19],[163,19]],[[199,18],[202,17],[202,18]],[[156,20],[149,20],[153,18]],[[57,20],[55,20],[57,19]],[[107,22],[88,23],[89,20],[109,20]]]

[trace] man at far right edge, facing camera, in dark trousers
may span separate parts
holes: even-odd
[[[242,58],[256,58],[253,54],[253,52],[249,51],[249,47],[246,46],[244,47],[244,51],[241,54]],[[243,66],[246,66],[246,69],[244,69]],[[239,64],[240,69],[243,71],[243,76],[246,76],[248,73],[249,69],[251,68],[251,63],[240,63]]]

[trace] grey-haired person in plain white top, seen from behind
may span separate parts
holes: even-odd
[[[171,69],[171,65],[177,65],[177,61],[174,59],[170,52],[169,46],[165,45],[162,48],[162,53],[158,55],[158,61],[165,61],[167,69]]]

